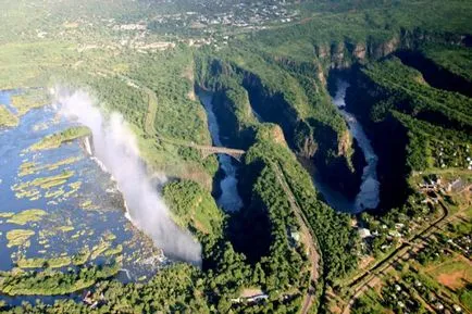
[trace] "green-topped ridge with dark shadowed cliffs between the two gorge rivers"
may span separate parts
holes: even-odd
[[[256,53],[234,49],[224,59],[212,59],[203,51],[196,61],[197,83],[216,91],[223,134],[247,148],[257,122],[278,124],[290,148],[315,161],[326,181],[353,197],[360,169],[353,165],[352,139],[316,76],[319,70]]]

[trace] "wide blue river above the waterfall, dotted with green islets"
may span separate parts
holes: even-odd
[[[12,92],[1,91],[0,103],[14,112],[10,102]],[[20,213],[29,209],[47,212],[39,222],[28,222],[25,225],[0,218],[0,271],[11,269],[18,256],[73,256],[84,248],[92,250],[94,246],[107,241],[111,249],[123,246],[123,268],[128,269],[131,276],[119,274],[120,280],[136,280],[138,277],[154,274],[166,263],[162,252],[125,217],[123,198],[116,184],[82,149],[78,140],[57,149],[28,150],[45,136],[72,125],[49,105],[26,113],[21,117],[17,127],[0,128],[0,212]],[[65,160],[69,160],[69,163],[52,166]],[[21,174],[21,166],[25,163],[34,163],[35,171]],[[25,183],[64,172],[73,172],[73,175],[61,185],[45,188],[30,185],[18,188]],[[73,229],[64,230],[63,227]],[[12,229],[34,230],[35,235],[29,239],[29,243],[8,248],[5,235]],[[100,254],[88,263],[102,264],[113,259],[113,255]],[[54,298],[57,297],[40,299],[50,303]],[[0,299],[9,304],[17,304],[33,298],[3,296]]]

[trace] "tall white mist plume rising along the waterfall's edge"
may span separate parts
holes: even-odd
[[[61,112],[91,129],[95,156],[125,199],[131,221],[171,258],[201,264],[201,247],[172,222],[139,156],[136,139],[117,113],[105,118],[84,92],[59,97]]]

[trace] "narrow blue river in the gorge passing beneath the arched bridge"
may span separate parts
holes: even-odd
[[[200,92],[199,98],[207,111],[208,129],[214,146],[223,146],[220,137],[220,125],[213,111],[213,95],[210,92]],[[233,164],[232,158],[226,154],[219,154],[218,160],[220,168],[224,176],[220,181],[221,196],[216,203],[226,212],[236,212],[243,208],[243,200],[237,190],[236,172],[237,166]]]

